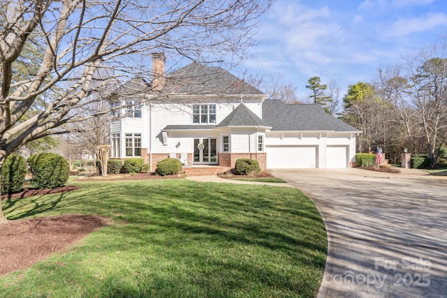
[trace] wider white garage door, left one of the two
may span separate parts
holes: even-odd
[[[265,147],[270,169],[316,168],[316,147]]]

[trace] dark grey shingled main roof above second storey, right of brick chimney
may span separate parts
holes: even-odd
[[[166,75],[162,93],[264,95],[263,92],[219,66],[206,66],[197,62]]]

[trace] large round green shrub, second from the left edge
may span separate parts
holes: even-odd
[[[33,178],[31,185],[36,188],[57,188],[64,186],[70,174],[66,159],[59,154],[39,153],[28,158]]]

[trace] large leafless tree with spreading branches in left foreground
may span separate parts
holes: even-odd
[[[151,52],[239,61],[269,6],[270,0],[1,0],[0,168],[27,142],[107,112],[70,113],[92,93],[108,96],[110,84],[150,77]],[[25,57],[29,45],[41,52],[38,61]],[[36,67],[15,73],[25,60]],[[100,69],[114,75],[99,80]]]

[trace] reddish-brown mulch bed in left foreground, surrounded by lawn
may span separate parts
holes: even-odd
[[[0,275],[30,267],[109,224],[106,218],[85,214],[8,221],[0,225]]]

